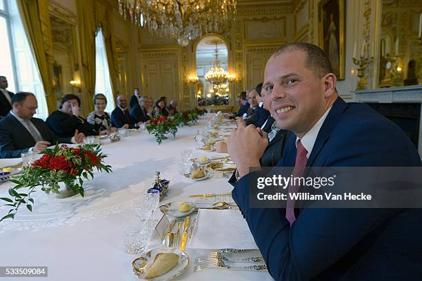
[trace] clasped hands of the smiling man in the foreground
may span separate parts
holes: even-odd
[[[239,176],[249,173],[250,167],[260,167],[259,159],[268,146],[268,138],[262,135],[260,128],[254,125],[239,125],[232,129],[227,139],[227,149],[230,158],[236,163]]]

